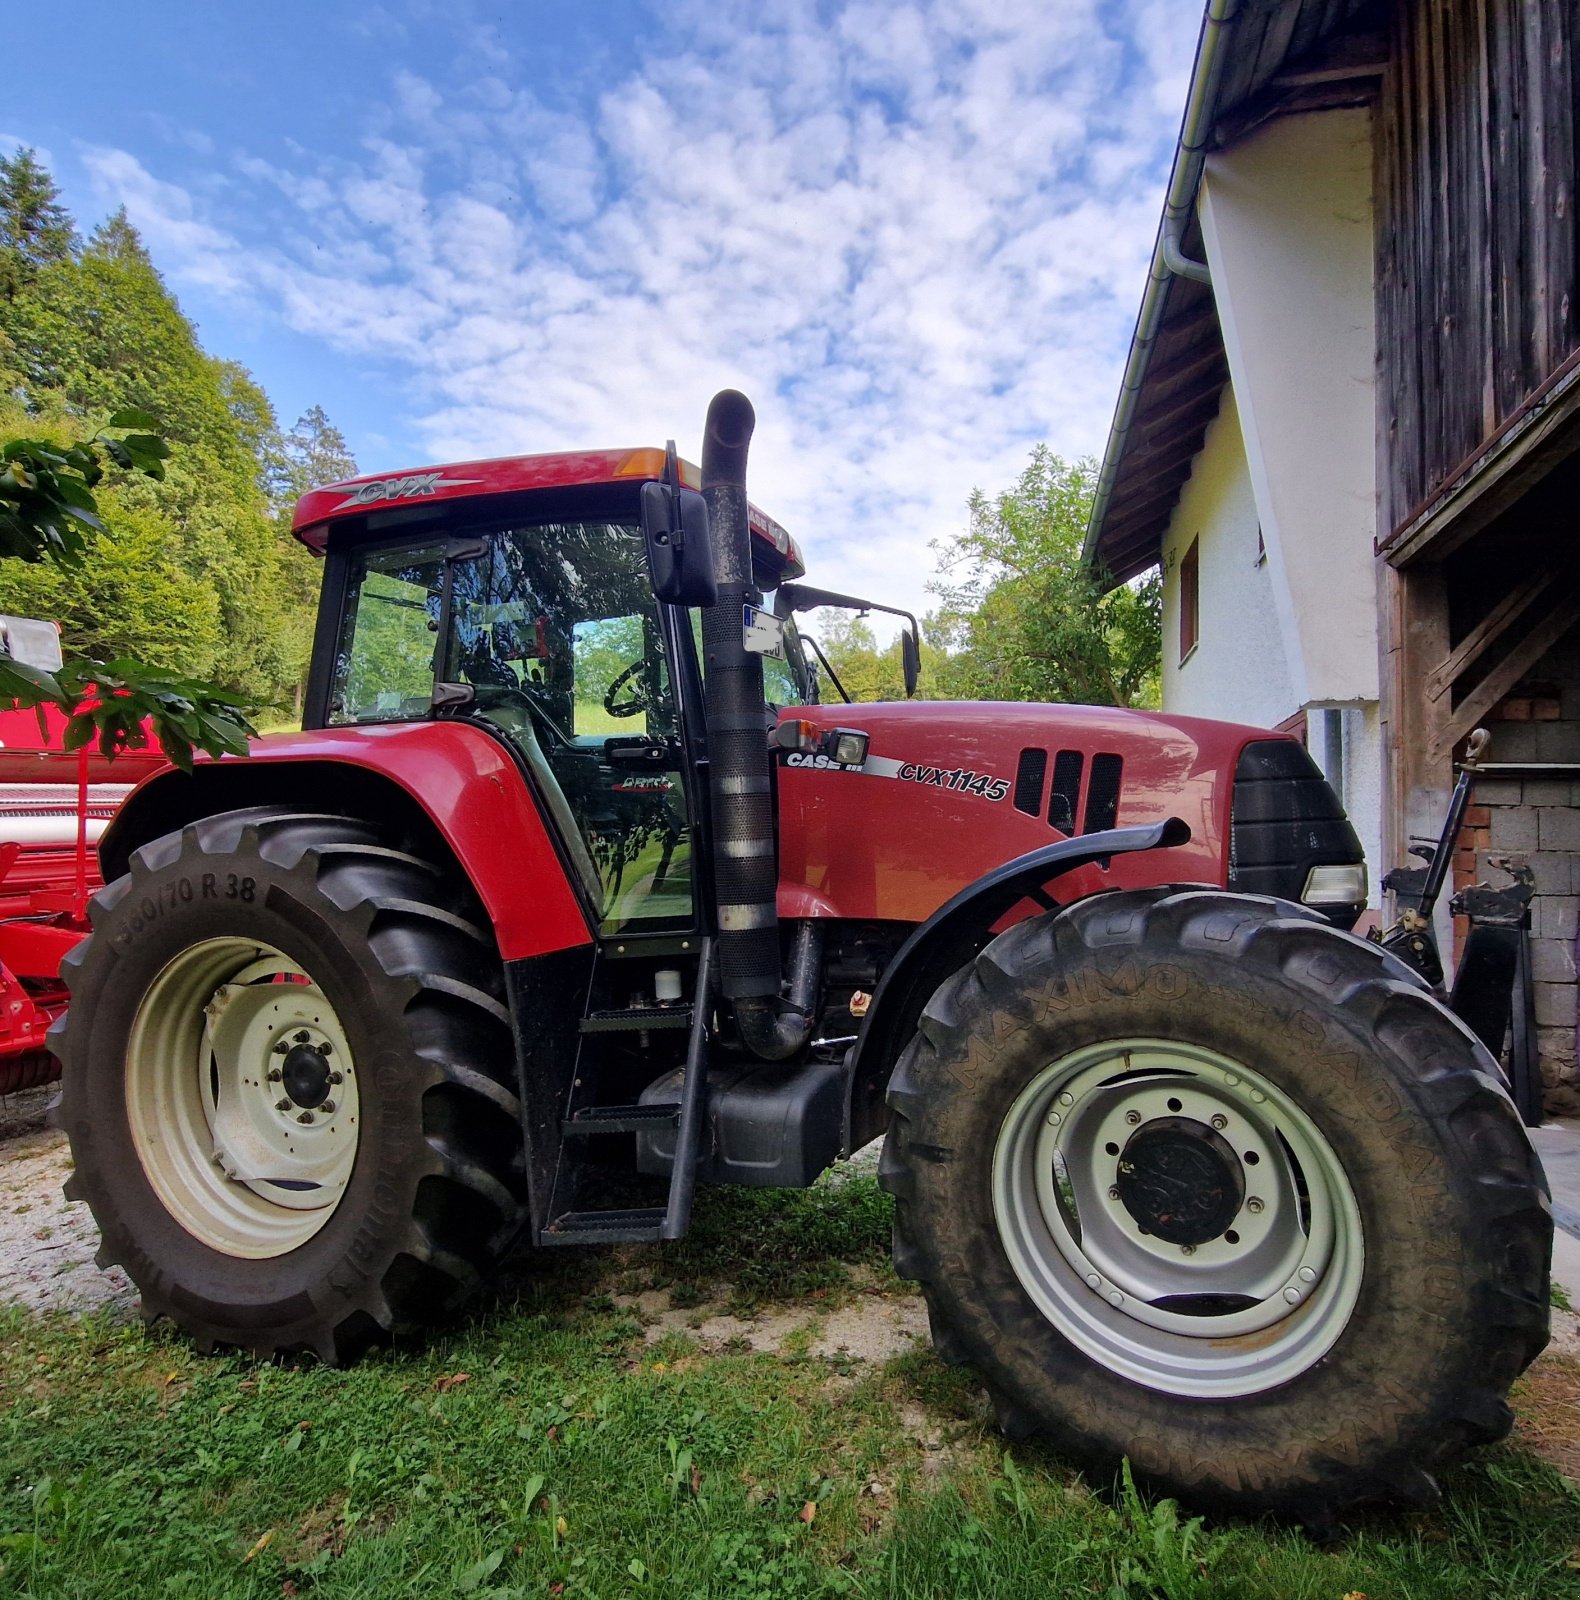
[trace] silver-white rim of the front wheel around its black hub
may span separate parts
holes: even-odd
[[[1215,1237],[1171,1243],[1121,1195],[1132,1141],[1166,1126],[1227,1152],[1209,1168],[1235,1179],[1239,1163]],[[1323,1133],[1244,1064],[1167,1040],[1092,1045],[1044,1067],[999,1128],[993,1213],[1043,1315],[1103,1366],[1167,1394],[1287,1382],[1332,1349],[1361,1291],[1361,1214]]]

